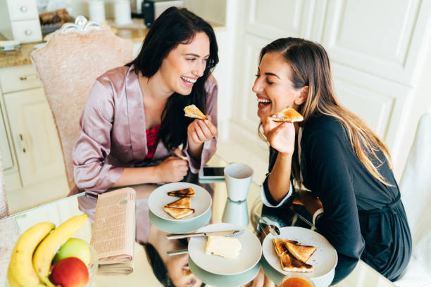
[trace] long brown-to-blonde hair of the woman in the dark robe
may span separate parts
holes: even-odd
[[[389,149],[363,120],[337,101],[332,89],[330,61],[323,46],[301,38],[277,39],[263,47],[259,61],[268,52],[278,52],[285,58],[292,70],[290,80],[295,89],[308,86],[306,101],[298,109],[304,116],[304,125],[316,113],[335,117],[342,123],[351,147],[368,172],[382,184],[391,186],[378,171],[383,162],[376,154],[380,149],[387,157],[389,167],[392,168]],[[376,167],[371,158],[375,158],[380,165]],[[296,167],[293,170],[296,180],[299,180],[298,169],[299,167]]]

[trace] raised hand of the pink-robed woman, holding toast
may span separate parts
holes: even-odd
[[[201,146],[205,141],[209,141],[217,136],[217,127],[211,122],[211,116],[207,115],[207,120],[194,120],[187,127],[187,141],[189,146]]]

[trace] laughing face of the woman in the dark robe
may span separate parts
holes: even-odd
[[[297,110],[304,103],[308,87],[295,89],[290,78],[290,65],[280,53],[263,55],[252,89],[257,96],[258,117],[272,115],[287,106]]]

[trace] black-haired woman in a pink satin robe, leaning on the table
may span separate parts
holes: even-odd
[[[211,70],[217,63],[208,23],[185,8],[163,12],[137,58],[92,87],[73,151],[78,188],[103,192],[181,181],[189,169],[196,174],[215,153],[218,88]],[[190,104],[208,120],[185,117]]]

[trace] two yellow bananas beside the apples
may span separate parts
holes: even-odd
[[[54,223],[40,222],[25,231],[12,250],[7,274],[9,286],[54,286],[48,276],[56,250],[82,227],[87,217],[85,214],[71,217],[56,229]]]

